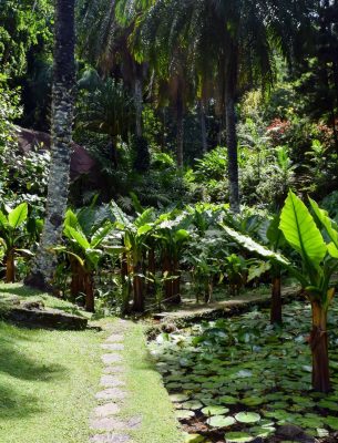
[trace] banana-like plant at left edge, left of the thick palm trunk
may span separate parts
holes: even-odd
[[[6,264],[6,282],[16,281],[16,254],[25,249],[20,249],[20,241],[28,235],[23,229],[23,224],[28,218],[28,205],[21,203],[13,209],[8,208],[6,215],[0,210],[0,244],[3,247],[3,260]]]

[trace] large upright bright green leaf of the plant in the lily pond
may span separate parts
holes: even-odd
[[[327,254],[327,246],[308,208],[291,190],[280,214],[279,228],[307,266],[318,267]]]

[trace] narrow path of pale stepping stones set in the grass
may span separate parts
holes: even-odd
[[[129,430],[136,430],[142,424],[141,416],[122,420],[119,418],[123,401],[127,396],[122,374],[125,370],[121,351],[124,350],[123,340],[130,323],[125,320],[116,321],[111,336],[101,348],[104,364],[100,385],[96,393],[98,406],[90,419],[93,435],[90,443],[132,443]]]

